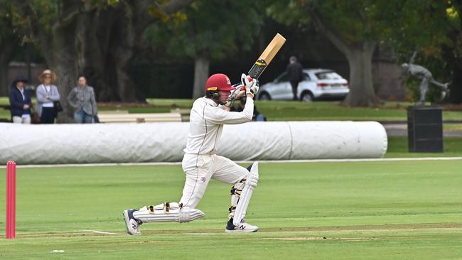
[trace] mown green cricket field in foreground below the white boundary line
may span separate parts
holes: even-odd
[[[17,239],[0,239],[0,259],[461,259],[461,168],[262,163],[247,213],[259,232],[224,233],[230,185],[211,181],[205,218],[144,224],[141,237],[124,234],[122,210],[178,200],[181,166],[18,168]]]

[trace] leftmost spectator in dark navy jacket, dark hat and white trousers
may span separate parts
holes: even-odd
[[[11,83],[9,93],[11,121],[16,124],[31,124],[31,97],[24,91],[27,80],[16,77]]]

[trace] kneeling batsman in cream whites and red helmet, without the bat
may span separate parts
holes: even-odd
[[[139,225],[146,222],[190,222],[204,216],[195,207],[205,193],[210,179],[234,185],[231,189],[231,207],[225,232],[256,232],[258,227],[245,222],[245,211],[254,187],[258,182],[258,163],[251,170],[238,166],[228,158],[217,156],[224,124],[241,124],[252,120],[254,94],[259,87],[257,80],[242,75],[247,102],[242,112],[227,112],[223,109],[230,91],[230,79],[224,74],[215,74],[205,84],[205,97],[195,100],[190,112],[189,134],[183,171],[186,182],[179,202],[164,202],[159,205],[141,207],[139,210],[124,210],[127,232],[139,235]]]

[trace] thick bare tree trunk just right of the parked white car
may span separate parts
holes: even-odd
[[[372,84],[372,54],[375,43],[365,42],[358,48],[352,46],[346,57],[350,65],[350,92],[343,105],[350,107],[367,107],[377,104]]]

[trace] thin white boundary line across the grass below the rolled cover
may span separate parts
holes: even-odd
[[[342,162],[364,162],[364,161],[450,161],[462,160],[462,157],[419,157],[419,158],[366,158],[366,159],[313,159],[313,160],[274,160],[260,161],[259,163],[342,163]],[[236,163],[253,163],[254,161],[235,161]],[[29,164],[16,168],[57,168],[57,167],[94,167],[94,166],[181,166],[181,162],[176,163],[70,163],[70,164]],[[6,166],[0,166],[1,169]]]

